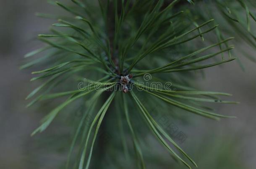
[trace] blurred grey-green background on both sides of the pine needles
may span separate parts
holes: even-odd
[[[35,146],[38,136],[30,134],[44,110],[25,108],[25,98],[37,83],[30,82],[31,71],[19,70],[24,54],[40,46],[36,35],[55,22],[34,14],[52,11],[63,12],[46,0],[0,0],[0,169],[55,169],[66,159],[61,151],[42,151],[47,142]],[[255,51],[249,53],[255,56]],[[198,78],[202,90],[233,93],[232,100],[240,104],[214,108],[238,118],[212,121],[196,117],[189,124],[177,124],[186,135],[181,147],[199,169],[256,169],[256,63],[240,58],[245,71],[232,62],[208,68],[205,78]]]

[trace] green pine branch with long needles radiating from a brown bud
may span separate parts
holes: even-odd
[[[48,2],[66,15],[37,13],[56,23],[49,33],[38,35],[43,47],[26,54],[28,63],[21,68],[34,67],[31,81],[42,83],[27,96],[31,99],[28,106],[57,101],[32,135],[66,116],[62,112],[72,116],[78,107],[82,113],[78,124],[71,125],[76,130],[66,168],[97,168],[104,165],[99,161],[107,158],[101,154],[105,153],[115,161],[110,168],[126,161],[128,168],[145,169],[149,161],[145,153],[150,148],[145,149],[145,136],[150,132],[173,159],[188,168],[197,167],[150,110],[154,106],[162,114],[175,110],[174,119],[184,118],[186,112],[214,120],[233,118],[204,106],[205,102],[237,103],[220,98],[229,93],[197,90],[193,79],[203,69],[228,66],[234,60],[243,67],[238,57],[256,61],[246,51],[236,55],[243,48],[230,45],[244,42],[255,50],[256,2]],[[102,143],[99,133],[111,138]]]

